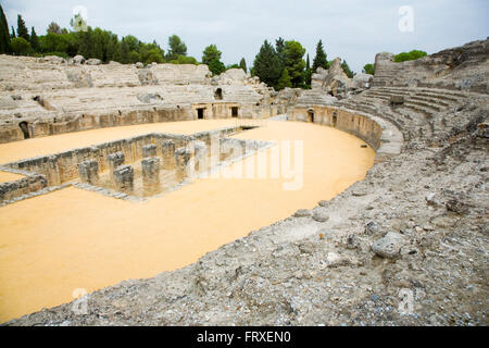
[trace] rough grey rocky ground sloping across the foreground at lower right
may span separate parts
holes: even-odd
[[[9,324],[488,325],[488,114],[468,101],[334,200],[196,264]]]

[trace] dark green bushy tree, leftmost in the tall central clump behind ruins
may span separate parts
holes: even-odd
[[[261,82],[276,88],[281,73],[280,58],[274,47],[265,40],[260,48],[260,52],[254,58],[253,74],[258,76]]]

